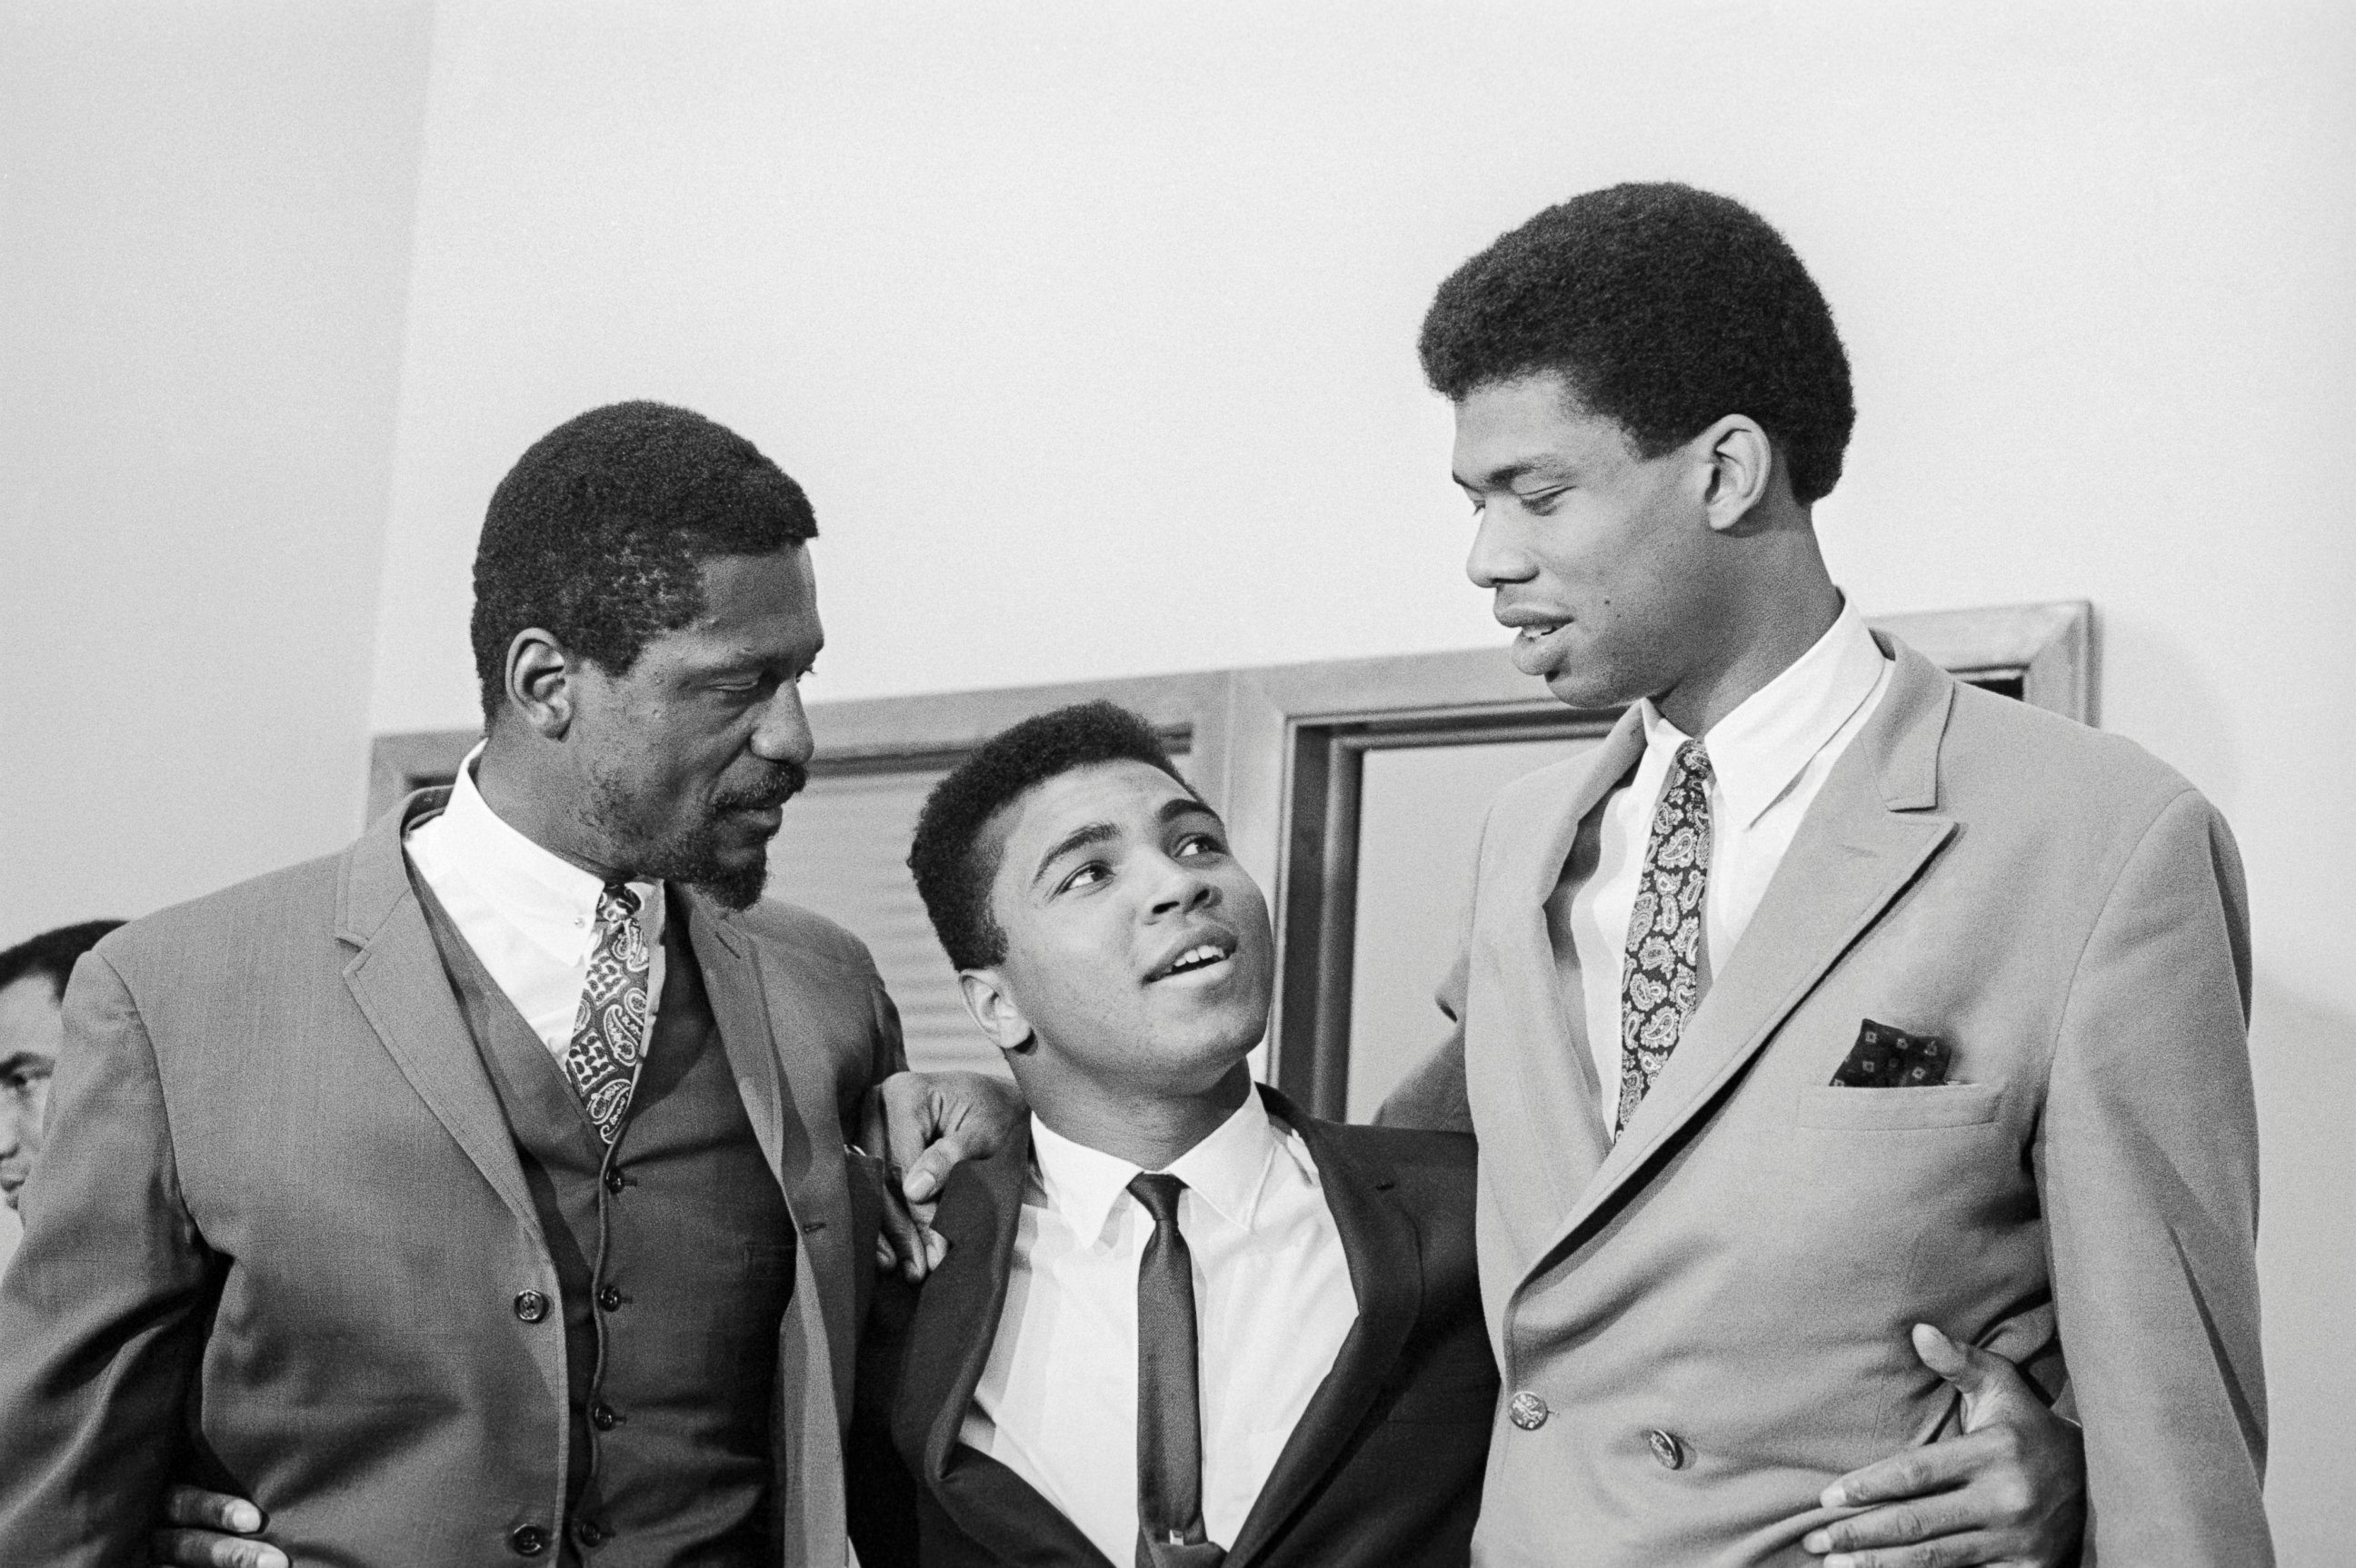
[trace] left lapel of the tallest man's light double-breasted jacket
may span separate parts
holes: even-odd
[[[1498,862],[1503,878],[1498,925],[1494,928],[1498,946],[1494,977],[1496,984],[1517,991],[1508,998],[1508,1015],[1529,1022],[1529,1036],[1513,1038],[1510,1050],[1522,1076],[1524,1114],[1531,1125],[1543,1128],[1541,1144],[1548,1158],[1538,1163],[1555,1184],[1546,1205],[1550,1215],[1560,1215],[1579,1201],[1612,1140],[1602,1121],[1593,1067],[1581,1050],[1583,1019],[1574,1026],[1567,1015],[1567,1008],[1576,1008],[1579,1001],[1564,994],[1555,944],[1546,928],[1546,902],[1553,897],[1555,883],[1562,881],[1562,866],[1579,841],[1579,824],[1635,768],[1640,756],[1644,756],[1644,720],[1635,709],[1628,709],[1593,751],[1588,770],[1560,810],[1548,817],[1529,852],[1513,845],[1496,850],[1510,859]],[[1489,855],[1484,850],[1484,859]]]

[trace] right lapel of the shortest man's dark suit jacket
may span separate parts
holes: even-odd
[[[1359,1165],[1333,1140],[1324,1123],[1293,1109],[1289,1099],[1263,1088],[1260,1095],[1289,1121],[1317,1161],[1333,1229],[1341,1231],[1350,1260],[1350,1288],[1357,1293],[1357,1323],[1333,1356],[1333,1370],[1317,1384],[1310,1408],[1301,1413],[1275,1469],[1227,1549],[1227,1563],[1244,1568],[1315,1495],[1317,1486],[1341,1462],[1350,1434],[1381,1394],[1407,1335],[1423,1311],[1423,1253],[1416,1227],[1392,1198],[1395,1182],[1385,1172]]]

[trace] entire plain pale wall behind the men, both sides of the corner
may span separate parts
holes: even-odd
[[[2104,725],[2241,831],[2271,1490],[2344,1556],[2347,7],[452,2],[422,146],[417,7],[0,14],[0,939],[344,836],[363,727],[474,720],[492,483],[613,398],[808,483],[818,697],[1494,640],[1432,285],[1614,179],[1758,205],[1857,365],[1840,579],[2094,600]]]

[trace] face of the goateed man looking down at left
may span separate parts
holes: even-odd
[[[803,546],[704,560],[702,591],[704,612],[629,673],[575,666],[573,725],[613,864],[742,909],[768,878],[780,808],[808,782],[801,680],[825,629]]]

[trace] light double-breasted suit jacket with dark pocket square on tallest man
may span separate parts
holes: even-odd
[[[1503,1387],[1548,1410],[1498,1413],[1477,1563],[1814,1561],[1816,1493],[1951,1415],[1915,1321],[2047,1382],[2062,1351],[2087,1561],[2271,1561],[2233,841],[2132,742],[1882,643],[1882,706],[1616,1142],[1543,906],[1642,727],[1491,808],[1456,1031],[1385,1107],[1477,1130]],[[1864,1019],[1944,1038],[1948,1083],[1831,1088]]]

